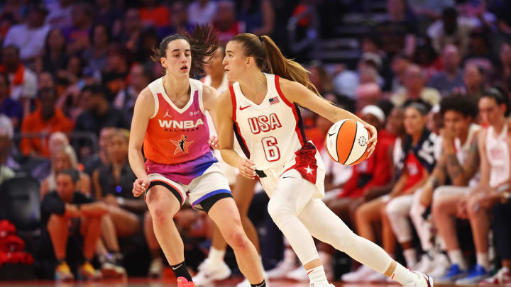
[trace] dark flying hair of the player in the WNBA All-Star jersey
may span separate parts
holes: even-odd
[[[210,25],[197,25],[192,35],[185,29],[178,30],[178,33],[163,38],[158,47],[151,48],[151,50],[153,50],[151,60],[160,62],[161,58],[167,57],[168,44],[178,39],[186,40],[190,45],[190,51],[192,53],[192,64],[189,72],[190,77],[193,77],[194,74],[203,74],[202,66],[207,64],[207,59],[214,54],[219,46],[213,27]]]

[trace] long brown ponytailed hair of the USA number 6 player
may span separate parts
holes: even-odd
[[[231,41],[243,44],[245,55],[253,57],[259,69],[290,81],[297,81],[319,95],[318,90],[309,79],[307,69],[302,67],[301,64],[284,57],[279,47],[267,35],[257,36],[251,33],[242,33],[234,36]]]

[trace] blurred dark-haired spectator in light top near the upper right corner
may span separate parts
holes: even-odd
[[[468,43],[473,26],[466,18],[458,17],[455,8],[447,8],[442,12],[442,18],[429,26],[427,35],[432,39],[432,45],[437,53],[441,53],[446,45],[458,47],[461,57],[468,52]]]

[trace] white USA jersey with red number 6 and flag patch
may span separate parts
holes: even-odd
[[[260,170],[279,169],[305,145],[300,110],[285,99],[278,76],[265,74],[268,93],[260,105],[231,86],[234,132],[241,149]]]

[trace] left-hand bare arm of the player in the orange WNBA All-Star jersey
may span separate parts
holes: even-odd
[[[137,176],[137,181],[133,185],[133,195],[140,196],[145,188],[149,186],[148,175],[145,172],[144,160],[142,156],[142,145],[147,131],[149,118],[155,112],[155,102],[153,94],[149,88],[145,88],[138,95],[133,111],[133,120],[131,120],[130,140],[128,146],[128,159],[131,170]]]

